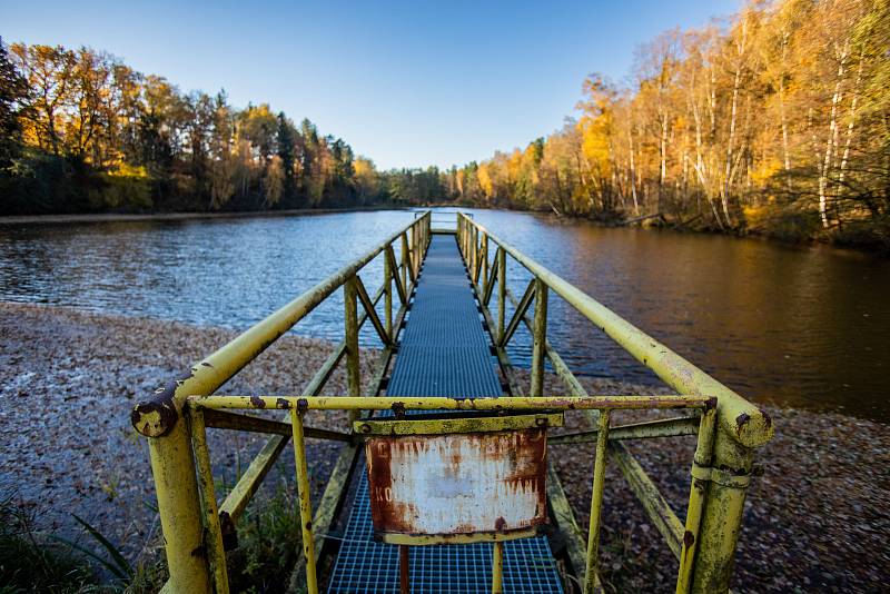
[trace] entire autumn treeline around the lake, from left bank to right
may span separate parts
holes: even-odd
[[[0,43],[1,46],[1,43]],[[0,214],[375,202],[548,210],[890,246],[890,0],[753,1],[641,47],[525,148],[377,171],[268,105],[80,48],[0,48]]]

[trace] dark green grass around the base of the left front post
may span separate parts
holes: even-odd
[[[281,478],[267,493],[255,497],[238,522],[238,547],[227,553],[231,592],[284,592],[300,552],[293,484]],[[0,497],[0,594],[149,594],[168,578],[159,534],[131,563],[111,538],[77,515],[72,517],[86,538],[41,532],[38,517],[38,509],[16,496]]]

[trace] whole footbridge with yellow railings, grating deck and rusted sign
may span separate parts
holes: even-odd
[[[437,217],[441,214],[437,214]],[[293,442],[301,551],[285,591],[597,592],[605,466],[614,465],[676,557],[676,592],[728,592],[751,479],[770,418],[593,298],[478,225],[419,214],[368,254],[297,297],[131,414],[149,440],[170,578],[165,592],[228,592],[228,552],[244,512]],[[531,275],[514,294],[507,258]],[[373,294],[363,276],[383,268]],[[333,294],[343,291],[344,340],[296,394],[216,390]],[[591,395],[547,340],[547,303],[561,298],[654,370],[675,396]],[[370,323],[383,348],[360,350]],[[507,346],[533,337],[528,374]],[[362,357],[375,358],[370,377]],[[561,395],[544,393],[545,360]],[[345,367],[347,393],[322,396]],[[527,380],[526,380],[527,378]],[[564,394],[564,395],[563,395]],[[349,412],[346,427],[312,426],[312,412]],[[614,423],[623,409],[657,420]],[[671,413],[673,412],[673,413]],[[562,429],[566,415],[581,429]],[[215,487],[208,430],[269,438],[227,493]],[[623,445],[696,436],[683,519]],[[342,443],[313,496],[306,439]],[[582,529],[548,452],[594,443]],[[221,496],[220,496],[221,495]]]

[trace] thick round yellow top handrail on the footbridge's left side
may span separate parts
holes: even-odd
[[[131,414],[134,427],[147,437],[167,434],[176,423],[187,396],[212,394],[419,220],[415,219],[402,227],[364,256],[347,264],[195,364],[188,375],[156,390],[150,400],[137,404]]]

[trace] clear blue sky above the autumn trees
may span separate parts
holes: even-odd
[[[561,127],[589,72],[739,0],[0,0],[6,42],[107,50],[185,91],[225,88],[343,137],[379,168],[448,167]]]

